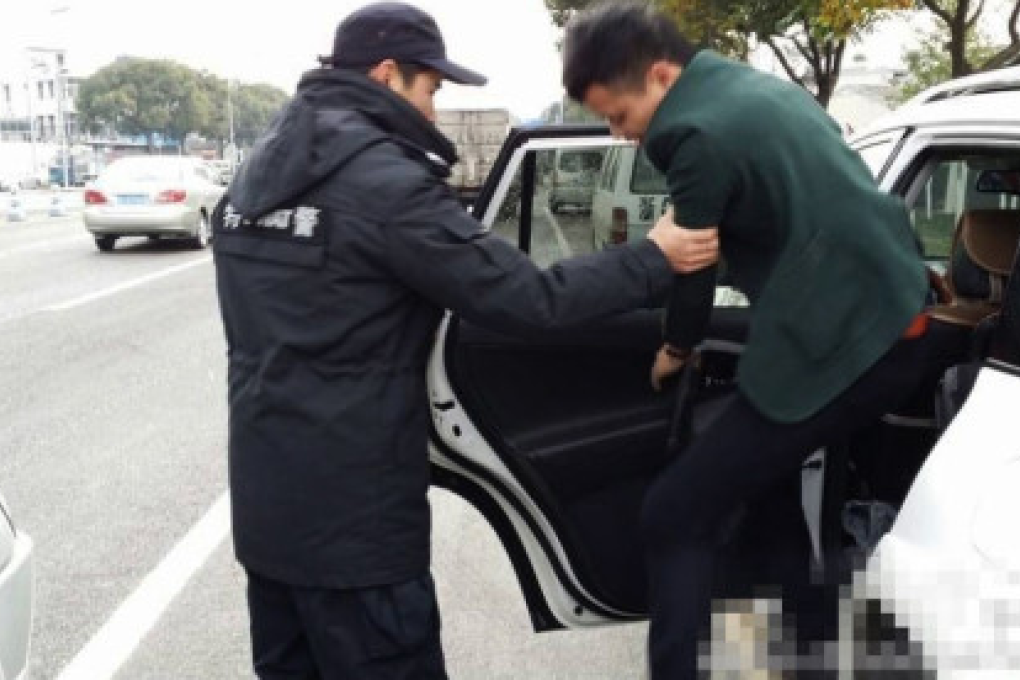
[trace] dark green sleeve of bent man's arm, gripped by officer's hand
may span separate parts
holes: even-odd
[[[733,191],[734,168],[721,156],[719,145],[695,129],[676,130],[658,140],[656,156],[667,168],[673,215],[688,229],[718,227],[723,221]],[[720,240],[723,238],[720,229]],[[680,348],[693,348],[704,337],[712,315],[718,266],[673,280],[663,339]]]

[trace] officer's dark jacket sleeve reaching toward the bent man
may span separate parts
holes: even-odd
[[[435,304],[504,332],[576,325],[661,302],[672,278],[648,240],[540,269],[483,231],[438,180],[407,192],[385,228],[395,276]]]

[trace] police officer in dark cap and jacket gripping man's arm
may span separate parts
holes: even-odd
[[[483,233],[445,182],[436,22],[368,5],[238,171],[213,217],[228,348],[234,542],[255,672],[444,678],[429,576],[425,366],[444,309],[507,331],[663,298],[690,247],[632,247],[538,269]]]

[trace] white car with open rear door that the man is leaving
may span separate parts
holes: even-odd
[[[858,579],[863,625],[847,627],[860,653],[845,664],[858,670],[936,665],[940,680],[1018,677],[1020,72],[1012,72],[1012,86],[1000,73],[988,92],[973,82],[946,89],[851,142],[880,186],[903,197],[925,259],[955,286],[952,304],[933,291],[932,313],[955,319],[938,323],[964,341],[960,368],[933,375],[901,412],[805,466],[794,505],[803,519],[792,521],[811,528],[819,566],[845,552],[873,556]],[[513,186],[507,200],[524,209],[499,222],[500,236],[543,266],[594,251],[599,225],[550,219],[537,170],[560,149],[621,145],[601,126],[512,130],[473,212],[495,224]],[[581,228],[586,241],[572,230]],[[976,274],[964,280],[971,265]],[[747,338],[749,309],[719,300],[696,429],[733,388]],[[671,394],[647,384],[661,314],[633,310],[533,338],[451,315],[438,334],[428,375],[434,483],[489,520],[537,631],[647,617],[639,509],[670,460],[674,407]]]

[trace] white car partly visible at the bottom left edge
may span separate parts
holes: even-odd
[[[32,538],[14,527],[0,496],[0,680],[28,677],[33,587]]]

